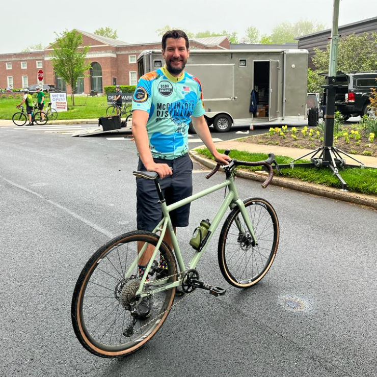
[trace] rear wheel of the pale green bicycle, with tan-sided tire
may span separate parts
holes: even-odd
[[[116,358],[137,351],[156,334],[170,312],[175,288],[151,295],[151,316],[137,320],[133,327],[137,332],[134,337],[124,335],[132,317],[129,308],[122,304],[122,293],[124,289],[128,289],[129,282],[139,281],[137,266],[127,279],[124,275],[137,255],[139,241],[155,246],[158,237],[146,231],[119,235],[93,254],[77,280],[71,305],[72,325],[79,342],[94,355]],[[165,241],[161,244],[159,252],[167,262],[169,282],[176,281],[175,258]],[[158,260],[159,253],[156,254]],[[156,275],[149,275],[149,282],[156,280]],[[99,295],[96,294],[96,290]],[[128,314],[130,318],[126,323]]]

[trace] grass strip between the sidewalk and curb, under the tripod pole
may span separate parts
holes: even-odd
[[[201,154],[206,158],[213,159],[211,153],[208,149],[196,149],[196,152]],[[224,149],[219,149],[219,152],[224,153]],[[243,161],[260,161],[267,159],[268,155],[265,153],[249,153],[245,151],[232,150],[230,152],[232,158],[243,160]],[[292,157],[287,156],[275,156],[278,164],[289,164],[293,159]],[[310,162],[307,160],[298,160],[297,163]],[[242,167],[245,170],[256,171],[260,170],[260,167]],[[318,169],[318,168],[298,168],[294,169],[281,169],[283,177],[290,177],[300,179],[302,181],[322,184],[329,187],[337,187],[341,189],[340,181],[335,177],[330,169]],[[340,175],[347,182],[348,191],[377,195],[377,169],[372,168],[346,168],[343,171],[341,170]],[[274,170],[276,176],[279,173]]]

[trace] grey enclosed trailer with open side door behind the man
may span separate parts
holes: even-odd
[[[160,50],[138,57],[139,77],[163,65]],[[200,80],[208,125],[307,119],[308,51],[303,49],[190,50],[185,71]],[[258,106],[258,107],[257,107]],[[219,121],[219,124],[217,122]]]

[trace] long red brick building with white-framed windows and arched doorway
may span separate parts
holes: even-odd
[[[132,44],[80,30],[78,33],[83,36],[83,46],[90,46],[87,59],[92,68],[87,72],[89,76],[78,80],[75,93],[103,93],[103,87],[107,85],[136,85],[139,53],[161,48],[160,42]],[[229,49],[229,46],[226,36],[190,40],[191,49]],[[17,89],[37,84],[37,72],[42,69],[43,84],[55,85],[71,93],[70,87],[53,72],[51,51],[51,46],[47,46],[41,51],[0,54],[0,88]]]

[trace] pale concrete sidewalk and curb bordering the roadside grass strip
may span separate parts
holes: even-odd
[[[287,147],[280,147],[276,145],[260,145],[260,144],[249,144],[243,143],[236,140],[229,140],[215,143],[218,149],[236,149],[236,150],[244,150],[251,153],[274,153],[275,155],[281,156],[289,156],[294,158],[301,157],[302,155],[312,152],[310,149],[299,149],[299,148],[287,148]],[[204,148],[205,146],[202,145],[197,148]],[[195,148],[196,149],[196,148]],[[216,164],[207,158],[203,158],[200,156],[195,149],[190,151],[190,154],[198,160],[203,165],[213,168]],[[370,157],[370,156],[361,156],[361,155],[354,155],[349,154],[350,156],[356,158],[357,160],[361,161],[365,164],[366,167],[377,168],[377,157]],[[310,159],[308,156],[306,159]],[[357,165],[356,161],[346,157],[345,158],[346,164]],[[341,172],[340,172],[341,174]],[[253,179],[260,182],[265,180],[265,175],[255,174],[253,172],[246,172],[246,171],[239,171],[237,173],[238,176]],[[283,178],[279,177],[279,175],[275,175],[274,179],[271,184],[286,187],[287,189],[297,190],[313,195],[323,196],[331,199],[342,200],[358,205],[365,205],[374,209],[377,209],[377,196],[373,195],[365,195],[365,194],[358,194],[358,193],[351,193],[351,192],[343,192],[339,189],[334,189],[333,187],[327,187],[320,184],[304,182],[298,179],[293,178]]]

